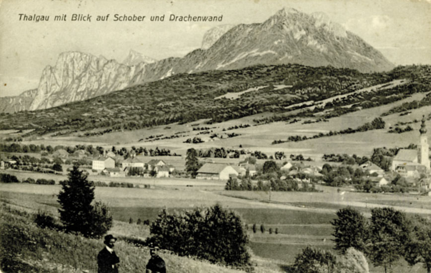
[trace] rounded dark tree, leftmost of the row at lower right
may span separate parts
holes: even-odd
[[[334,227],[335,249],[345,253],[350,247],[364,252],[368,238],[368,226],[365,217],[353,207],[341,208],[337,218],[331,221]]]

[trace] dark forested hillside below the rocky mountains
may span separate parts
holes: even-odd
[[[262,112],[313,115],[326,118],[361,108],[387,104],[415,92],[430,91],[430,66],[398,67],[390,72],[360,73],[357,70],[301,65],[254,66],[228,71],[177,74],[86,101],[45,110],[1,114],[0,129],[35,129],[31,134],[79,131],[111,132],[136,130],[169,123],[210,119],[210,123]],[[287,106],[317,101],[361,88],[405,79],[403,85],[372,90],[328,103],[322,108],[288,113]],[[219,98],[226,93],[256,88],[237,99]],[[339,106],[350,105],[348,108]]]

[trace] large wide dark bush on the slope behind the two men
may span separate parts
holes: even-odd
[[[180,256],[197,256],[230,266],[246,266],[250,261],[241,218],[220,205],[172,214],[163,209],[151,224],[150,233],[147,243]]]

